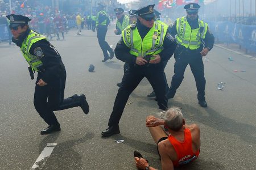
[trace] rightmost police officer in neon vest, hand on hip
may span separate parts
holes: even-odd
[[[172,36],[176,35],[177,49],[174,54],[176,59],[174,65],[174,76],[172,76],[171,87],[167,93],[167,98],[174,97],[179,88],[187,65],[196,80],[197,99],[201,107],[207,107],[205,101],[205,78],[203,56],[213,48],[214,36],[209,31],[208,24],[199,20],[197,3],[189,3],[184,6],[187,16],[178,18],[174,24],[168,28]]]

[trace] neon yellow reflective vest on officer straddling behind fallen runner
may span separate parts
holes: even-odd
[[[130,48],[130,54],[134,56],[146,56],[159,54],[163,50],[163,41],[166,36],[167,27],[154,23],[144,39],[141,39],[137,27],[131,29],[130,25],[122,31],[123,42]]]

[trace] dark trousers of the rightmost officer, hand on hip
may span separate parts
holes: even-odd
[[[205,78],[204,78],[204,63],[200,53],[185,53],[180,54],[175,52],[174,76],[172,76],[171,87],[169,93],[172,97],[175,95],[177,88],[179,88],[187,65],[190,66],[191,71],[196,80],[197,99],[205,100]]]

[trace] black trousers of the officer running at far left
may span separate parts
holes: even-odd
[[[39,73],[36,83],[41,78],[42,76]],[[80,104],[79,96],[77,95],[64,99],[65,82],[66,71],[64,69],[58,78],[47,82],[46,86],[38,86],[36,84],[34,94],[35,109],[48,125],[58,124],[53,111],[78,107]]]

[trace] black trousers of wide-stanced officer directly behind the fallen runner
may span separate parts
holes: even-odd
[[[115,97],[113,111],[109,118],[109,126],[119,124],[123,109],[125,108],[125,104],[131,92],[134,91],[144,77],[148,79],[155,91],[159,108],[162,110],[167,109],[162,63],[157,65],[150,64],[148,67],[130,65],[130,69],[123,75],[122,86],[119,88],[117,96]]]

